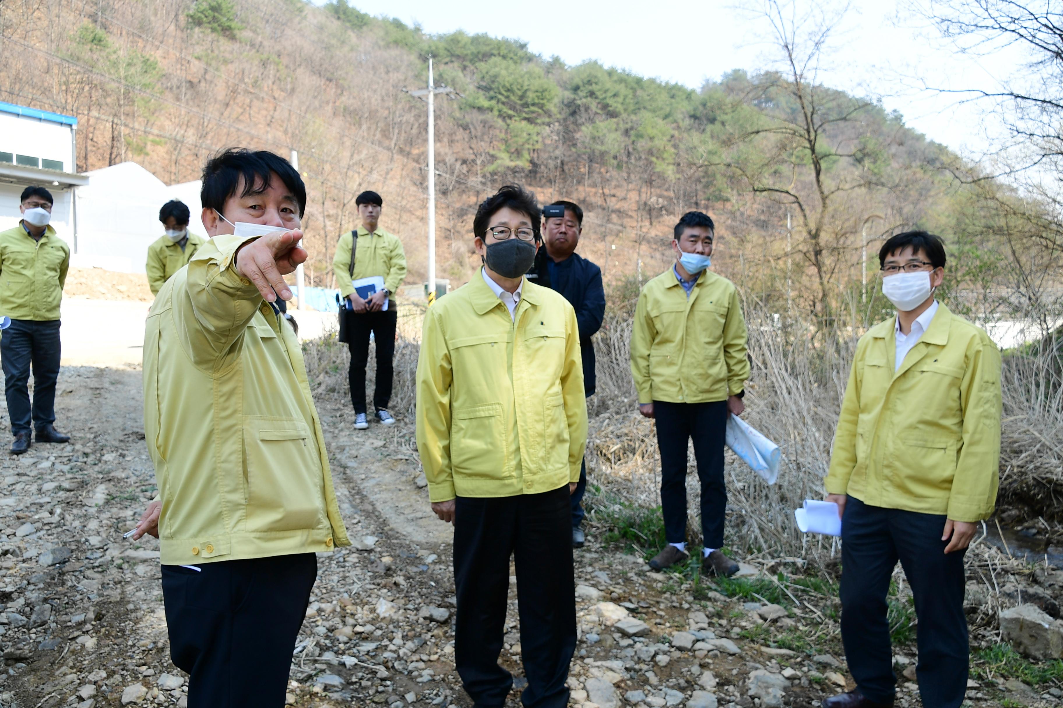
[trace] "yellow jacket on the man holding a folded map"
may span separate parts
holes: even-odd
[[[639,293],[631,376],[640,403],[707,403],[737,396],[749,378],[738,290],[703,271],[690,297],[669,269]]]

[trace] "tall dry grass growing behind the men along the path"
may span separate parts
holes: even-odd
[[[830,444],[848,376],[856,335],[813,336],[799,321],[778,323],[770,313],[747,311],[753,373],[745,398],[748,422],[782,449],[778,483],[766,485],[727,453],[727,545],[745,557],[791,558],[826,567],[837,545],[823,536],[802,534],[793,510],[806,498],[822,498]],[[392,408],[412,418],[414,377],[423,306],[400,310]],[[631,320],[623,310],[610,314],[595,336],[597,394],[589,401],[588,470],[598,490],[589,494],[592,519],[625,510],[660,504],[659,459],[654,424],[642,418],[628,367]],[[827,343],[824,343],[824,341]],[[347,347],[330,333],[305,345],[311,388],[319,396],[347,396]],[[372,380],[372,356],[368,378]],[[1063,385],[1057,350],[1031,346],[1006,357],[1003,373],[1003,450],[1001,501],[1025,504],[1026,516],[1059,515],[1054,493],[1063,490]],[[690,540],[697,542],[698,486],[690,454],[688,478]],[[1001,562],[995,551],[979,564],[1018,567]],[[994,566],[994,564],[996,564]]]

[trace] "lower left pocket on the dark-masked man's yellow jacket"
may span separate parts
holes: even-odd
[[[506,435],[502,403],[454,409],[451,422],[451,466],[455,474],[503,479]]]

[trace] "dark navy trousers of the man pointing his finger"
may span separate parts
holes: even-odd
[[[283,708],[318,576],[313,553],[163,566],[170,658],[190,708]]]

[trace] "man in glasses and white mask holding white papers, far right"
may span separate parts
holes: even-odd
[[[857,344],[826,479],[842,516],[842,641],[857,688],[823,705],[893,705],[885,598],[899,559],[919,623],[923,705],[958,708],[967,688],[963,555],[996,502],[1000,351],[934,299],[940,238],[898,234],[878,257],[897,316]]]

